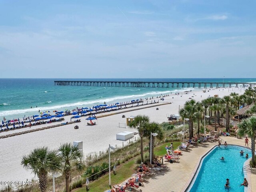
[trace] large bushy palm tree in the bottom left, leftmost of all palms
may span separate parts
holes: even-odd
[[[57,151],[49,150],[48,147],[36,148],[30,154],[24,155],[21,164],[38,176],[41,192],[46,192],[48,173],[60,170],[61,167]]]

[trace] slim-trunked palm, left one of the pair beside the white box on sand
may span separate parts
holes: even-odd
[[[132,128],[136,128],[139,132],[140,136],[140,157],[141,162],[144,162],[143,158],[143,136],[146,130],[146,126],[149,124],[149,117],[146,115],[137,115],[132,122],[130,122],[129,126]]]

